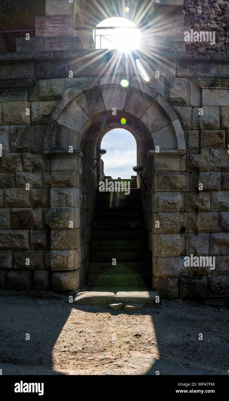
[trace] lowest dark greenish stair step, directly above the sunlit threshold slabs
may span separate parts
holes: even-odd
[[[87,275],[87,286],[101,286],[101,287],[141,287],[146,286],[149,283],[149,276],[147,274],[131,274],[131,273],[120,273],[120,274],[94,274],[89,273]],[[133,301],[134,302],[134,301]]]

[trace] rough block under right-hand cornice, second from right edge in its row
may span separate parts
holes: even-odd
[[[203,106],[203,115],[199,115],[199,107],[193,107],[193,129],[217,129],[219,128],[219,107]]]

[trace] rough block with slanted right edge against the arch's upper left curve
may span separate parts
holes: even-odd
[[[46,124],[56,105],[57,101],[31,102],[31,123]]]

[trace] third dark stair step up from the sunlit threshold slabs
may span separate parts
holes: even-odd
[[[123,251],[123,250],[93,250],[91,253],[91,261],[92,262],[112,262],[113,258],[116,258],[117,262],[125,262],[125,261],[144,261],[146,260],[147,254],[146,250],[131,250],[131,251]]]

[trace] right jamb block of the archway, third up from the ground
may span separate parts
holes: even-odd
[[[186,234],[153,234],[152,250],[155,257],[184,255]]]

